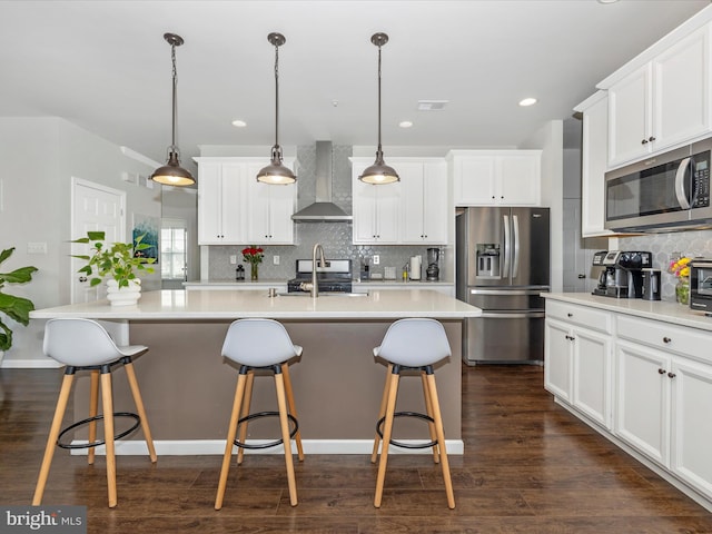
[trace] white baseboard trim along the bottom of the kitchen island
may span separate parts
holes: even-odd
[[[266,439],[253,439],[248,443],[260,444]],[[418,441],[403,439],[404,443],[423,443]],[[75,441],[72,444],[86,444],[86,441]],[[156,454],[159,456],[195,456],[202,454],[224,454],[225,439],[171,439],[154,441]],[[373,439],[301,439],[305,454],[370,454],[373,452]],[[465,443],[462,439],[446,439],[447,454],[462,455],[465,452]],[[297,449],[291,444],[293,453]],[[97,454],[106,455],[103,446],[96,448]],[[86,455],[87,449],[72,449],[71,454]],[[146,442],[139,439],[116,442],[116,454],[123,456],[142,456],[148,454]],[[284,454],[284,447],[278,445],[268,449],[250,451],[245,454]],[[388,449],[388,454],[432,454],[431,448],[406,449],[394,447]]]

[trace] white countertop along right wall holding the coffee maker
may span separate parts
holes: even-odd
[[[671,300],[643,300],[642,298],[612,298],[589,293],[542,293],[544,298],[594,308],[634,315],[646,319],[663,320],[674,325],[712,330],[712,317]]]

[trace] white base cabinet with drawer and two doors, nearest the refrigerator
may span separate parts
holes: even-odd
[[[547,301],[544,325],[544,387],[610,429],[612,315]]]

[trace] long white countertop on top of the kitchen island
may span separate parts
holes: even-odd
[[[136,306],[110,306],[108,300],[38,309],[30,317],[95,319],[399,319],[478,317],[482,309],[433,289],[379,289],[367,296],[322,295],[268,297],[266,289],[240,291],[160,290],[141,295]]]

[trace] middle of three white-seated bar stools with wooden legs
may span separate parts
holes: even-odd
[[[215,510],[222,507],[227,477],[230,469],[233,446],[239,447],[237,455],[238,465],[243,463],[245,448],[267,448],[284,444],[285,464],[287,466],[287,483],[289,485],[289,502],[297,505],[297,484],[294,475],[294,462],[291,458],[291,438],[297,445],[297,456],[304,459],[301,448],[301,435],[297,422],[297,411],[294,403],[294,392],[289,378],[288,360],[301,355],[301,347],[294,345],[285,327],[273,319],[239,319],[234,322],[227,330],[222,345],[222,356],[239,364],[237,388],[233,403],[233,413],[225,444],[222,468],[218,493],[215,500]],[[249,414],[253,396],[253,383],[255,369],[270,370],[275,377],[277,388],[278,412],[259,412]],[[241,415],[240,415],[241,414]],[[247,424],[258,417],[279,416],[281,438],[263,445],[245,443],[247,437]],[[291,432],[289,426],[293,426]],[[240,427],[240,437],[236,439],[237,428]]]

